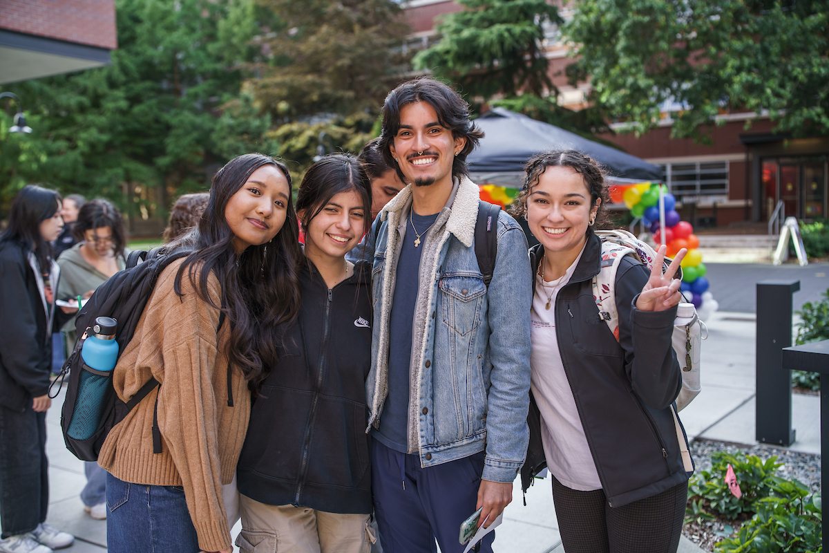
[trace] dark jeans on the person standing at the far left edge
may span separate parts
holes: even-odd
[[[36,413],[31,401],[22,413],[0,406],[2,539],[34,530],[49,507],[46,413]]]

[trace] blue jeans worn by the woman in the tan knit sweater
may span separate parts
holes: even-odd
[[[131,484],[107,473],[109,553],[198,553],[196,527],[180,486]]]

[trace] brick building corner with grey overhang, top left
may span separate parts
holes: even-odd
[[[114,0],[0,0],[0,85],[109,64]]]

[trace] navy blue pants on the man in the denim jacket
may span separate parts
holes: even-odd
[[[384,553],[463,553],[463,521],[476,511],[484,453],[421,468],[416,454],[402,454],[371,439],[371,492]],[[480,551],[492,553],[495,532]]]

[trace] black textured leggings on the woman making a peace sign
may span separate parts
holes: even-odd
[[[578,492],[553,477],[555,515],[567,553],[676,553],[688,483],[609,507],[603,490]]]

